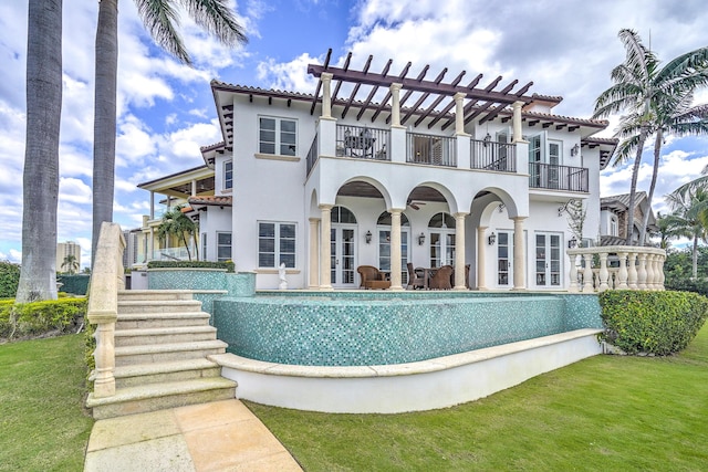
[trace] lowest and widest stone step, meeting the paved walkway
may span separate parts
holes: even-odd
[[[92,408],[93,417],[100,420],[235,397],[235,381],[214,377],[121,388],[105,398],[88,394],[86,407]]]

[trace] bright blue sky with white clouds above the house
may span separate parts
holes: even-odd
[[[0,260],[20,262],[25,141],[27,1],[0,3]],[[178,64],[156,48],[133,1],[119,3],[118,138],[114,219],[137,228],[149,195],[136,185],[202,165],[199,147],[221,140],[209,81],[313,93],[308,63],[369,54],[372,70],[392,57],[392,71],[413,62],[468,77],[533,81],[530,93],[561,95],[555,113],[590,117],[610,71],[624,59],[622,28],[668,61],[708,44],[702,0],[239,0],[235,8],[250,40],[226,50],[186,18],[183,33],[195,62]],[[60,148],[59,241],[82,245],[90,260],[94,39],[97,1],[64,1],[63,109]],[[483,83],[485,80],[482,80]],[[708,94],[700,94],[708,102]],[[605,133],[612,135],[612,129]],[[647,189],[650,149],[639,175]],[[668,139],[663,147],[655,209],[662,196],[699,175],[708,138]],[[628,191],[631,169],[607,169],[602,195]],[[42,191],[42,189],[37,189]]]

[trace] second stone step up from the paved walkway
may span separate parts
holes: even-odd
[[[115,376],[115,387],[126,388],[148,384],[219,377],[221,367],[208,359],[199,358],[121,366],[115,368],[113,375]]]

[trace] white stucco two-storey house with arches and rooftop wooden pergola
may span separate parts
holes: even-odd
[[[258,289],[277,289],[284,263],[289,289],[356,289],[374,265],[403,290],[410,262],[452,265],[457,290],[566,290],[568,202],[583,201],[594,239],[607,122],[556,115],[561,97],[518,81],[350,59],[311,64],[313,94],[212,81],[223,140],[204,166],[140,185],[143,261],[163,195],[188,201],[202,259],[233,260]]]

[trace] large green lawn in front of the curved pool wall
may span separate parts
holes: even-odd
[[[248,407],[306,471],[705,471],[708,325],[677,356],[596,356],[442,410]]]

